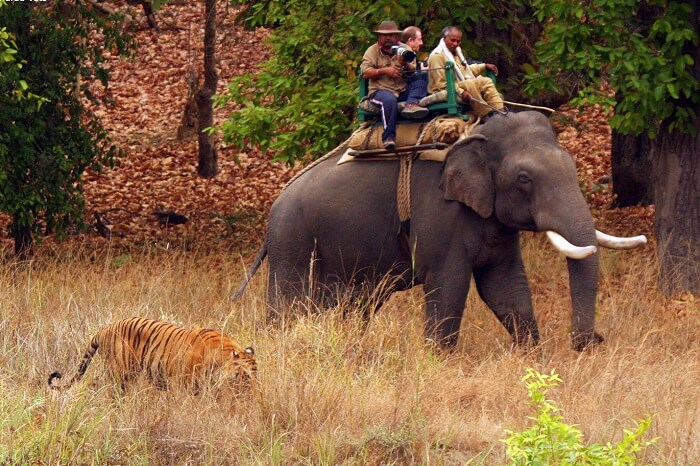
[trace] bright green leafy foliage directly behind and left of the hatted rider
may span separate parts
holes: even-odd
[[[357,75],[364,49],[372,43],[367,24],[384,17],[387,2],[359,13],[357,1],[268,2],[253,5],[251,24],[278,23],[270,35],[271,58],[258,75],[235,78],[216,99],[243,108],[221,125],[240,147],[259,144],[292,163],[306,153],[328,152],[347,137],[357,102]],[[328,18],[338,18],[330,24]],[[350,51],[350,52],[348,52]]]

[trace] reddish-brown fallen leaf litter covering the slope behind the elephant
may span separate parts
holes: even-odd
[[[219,91],[233,76],[252,72],[267,57],[264,29],[244,31],[234,24],[237,10],[218,5],[217,58]],[[113,241],[173,244],[231,243],[247,249],[257,244],[265,217],[284,184],[299,170],[272,163],[270,154],[245,152],[218,144],[219,174],[197,175],[196,138],[178,141],[177,128],[187,100],[188,67],[201,79],[204,6],[170,3],[161,14],[161,32],[138,18],[136,54],[108,54],[111,81],[106,91],[114,105],[96,108],[113,140],[126,156],[112,169],[87,173],[86,221],[104,213]],[[176,26],[176,27],[175,27]],[[93,89],[100,92],[99,89]],[[221,122],[231,109],[217,110]],[[554,119],[561,144],[576,158],[579,179],[599,228],[612,234],[651,235],[653,208],[610,209],[610,128],[600,108],[580,114],[561,109]],[[189,218],[184,225],[164,227],[157,209]],[[78,235],[81,242],[105,243],[96,230]]]

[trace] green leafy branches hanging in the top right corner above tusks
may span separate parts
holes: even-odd
[[[526,91],[556,90],[576,82],[574,105],[615,109],[610,124],[627,134],[655,137],[656,122],[669,130],[693,131],[700,108],[698,33],[688,2],[533,0],[546,22],[537,44],[539,68],[527,77]],[[618,93],[619,101],[604,87]]]

